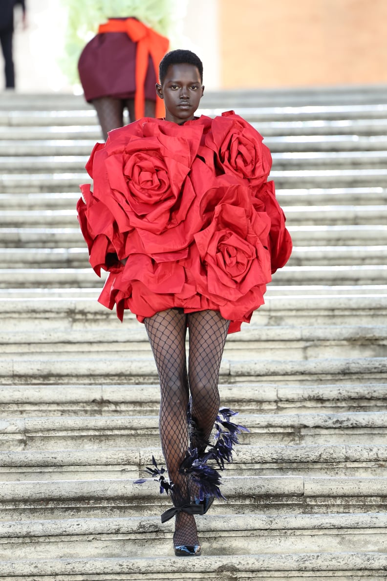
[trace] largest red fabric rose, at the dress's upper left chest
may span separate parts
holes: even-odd
[[[121,231],[136,227],[160,234],[169,227],[202,131],[203,125],[146,119],[110,132],[93,156],[94,196],[106,203]]]

